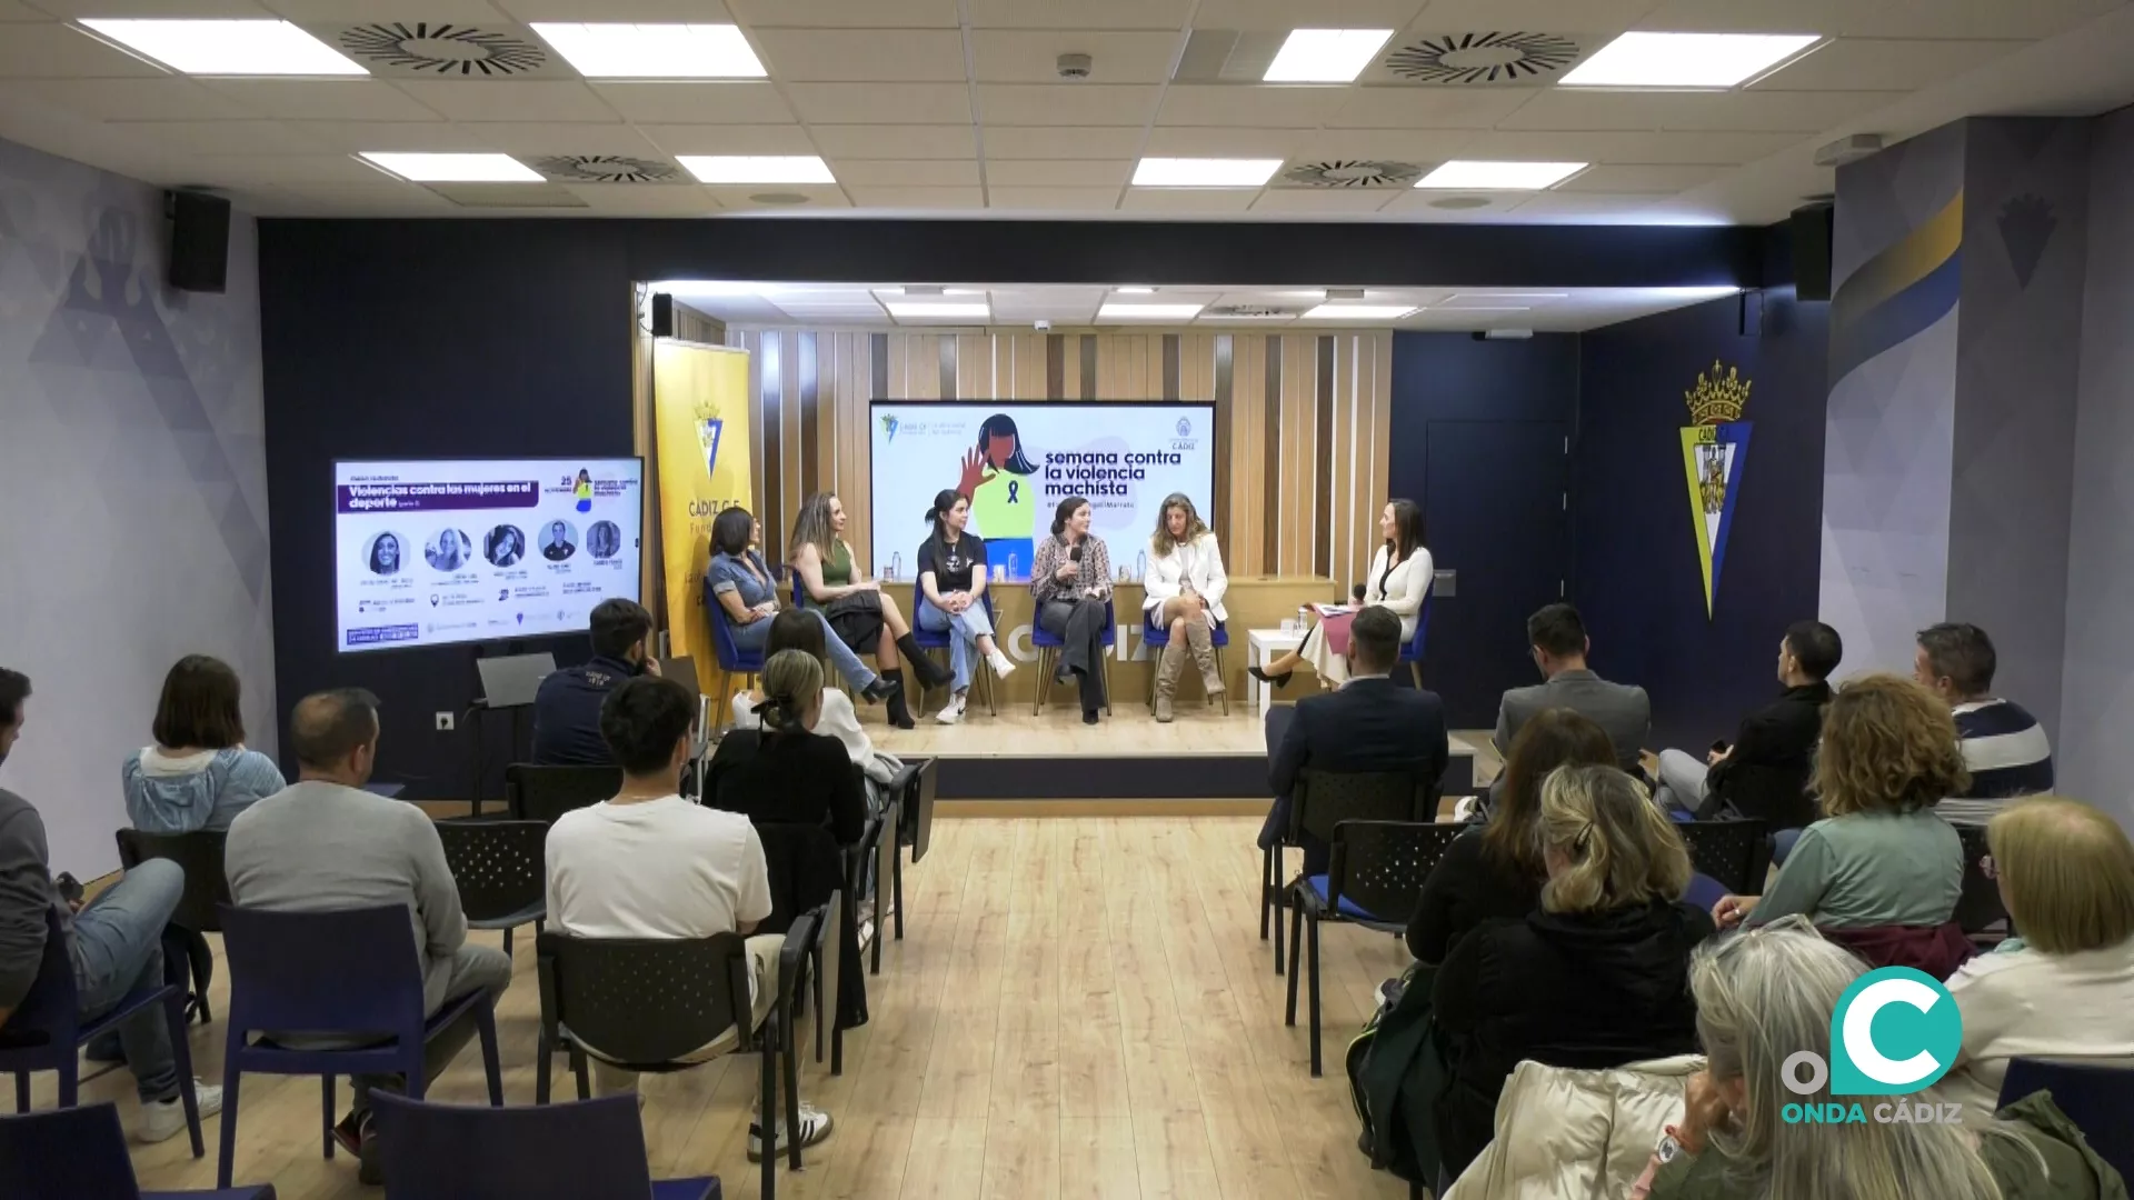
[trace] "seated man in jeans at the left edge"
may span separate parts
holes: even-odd
[[[30,679],[0,668],[0,764],[30,717],[28,700]],[[139,989],[162,986],[162,927],[184,893],[186,871],[156,858],[77,907],[51,878],[45,818],[30,801],[0,788],[0,1038],[45,965],[47,912],[60,918],[81,1019],[92,1021]],[[137,1136],[143,1142],[175,1136],[186,1127],[186,1106],[177,1098],[177,1059],[162,1006],[149,1006],[120,1025],[120,1044],[141,1098]],[[220,1087],[192,1087],[201,1117],[222,1110]]]

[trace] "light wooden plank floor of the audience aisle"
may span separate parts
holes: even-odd
[[[1285,980],[1259,942],[1255,831],[1251,818],[939,822],[905,875],[905,942],[869,980],[873,1023],[847,1036],[845,1076],[805,1059],[800,1093],[837,1130],[800,1174],[781,1170],[779,1196],[1406,1196],[1357,1153],[1340,1070],[1406,950],[1327,927],[1327,1074],[1310,1078],[1304,1027],[1283,1027]],[[536,1023],[521,942],[499,1008],[510,1104],[534,1100]],[[194,1029],[209,1080],[222,1036],[220,1023]],[[83,1091],[120,1100],[128,1127],[139,1119],[124,1072]],[[745,1155],[753,1061],[647,1076],[644,1091],[655,1177],[719,1174],[728,1196],[758,1196]],[[431,1095],[482,1100],[476,1048]],[[51,1076],[36,1098],[51,1104]],[[141,1185],[211,1187],[218,1123],[201,1162],[184,1136],[137,1147]],[[248,1076],[237,1149],[237,1181],[273,1181],[284,1200],[378,1196],[346,1155],[320,1157],[316,1080]]]

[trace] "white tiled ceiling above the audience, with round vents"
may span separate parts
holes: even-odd
[[[73,17],[450,21],[531,47],[527,70],[440,79],[192,79]],[[587,81],[527,21],[736,21],[762,81]],[[1195,34],[1400,30],[1353,85],[1176,79]],[[1731,92],[1415,83],[1387,60],[1447,34],[1545,30],[1590,53],[1624,30],[1810,32],[1814,53]],[[1054,60],[1088,53],[1063,83]],[[2134,100],[2128,0],[0,0],[0,137],[154,184],[205,184],[290,216],[898,214],[1227,220],[1771,222],[1831,190],[1816,145],[1904,139],[1974,113],[2096,113]],[[1187,68],[1191,75],[1191,68]],[[687,179],[679,154],[819,154],[834,186],[576,181],[423,188],[356,152],[619,156]],[[1285,167],[1583,160],[1547,192],[1406,186],[1146,190],[1142,156]],[[755,196],[785,194],[785,203]],[[798,203],[794,203],[798,199]],[[1436,207],[1445,199],[1483,201]]]

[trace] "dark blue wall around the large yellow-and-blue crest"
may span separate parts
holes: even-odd
[[[1778,690],[1786,626],[1816,615],[1827,307],[1773,288],[1761,337],[1739,333],[1729,297],[1579,340],[1571,598],[1594,666],[1652,694],[1652,745],[1731,739]],[[1707,619],[1679,429],[1682,393],[1714,359],[1752,380],[1752,431]]]

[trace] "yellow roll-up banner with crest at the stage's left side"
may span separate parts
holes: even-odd
[[[662,337],[653,344],[659,455],[659,547],[666,559],[668,653],[696,660],[711,692],[719,658],[704,611],[711,521],[755,495],[749,480],[749,352]]]

